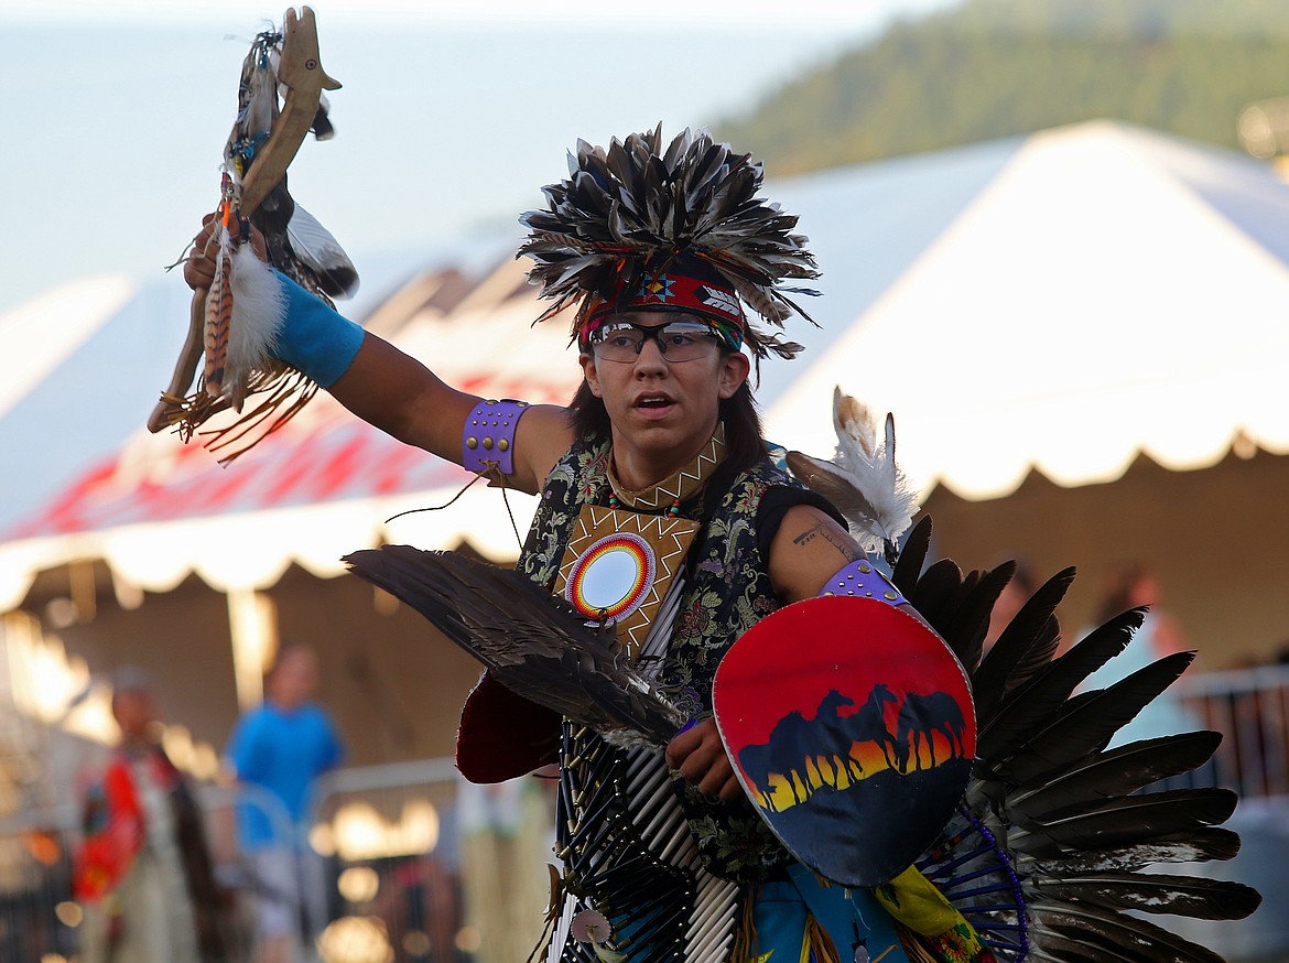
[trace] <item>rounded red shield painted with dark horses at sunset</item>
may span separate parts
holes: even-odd
[[[954,812],[976,721],[967,676],[923,623],[828,597],[763,619],[713,692],[748,797],[803,862],[846,886],[902,871]]]

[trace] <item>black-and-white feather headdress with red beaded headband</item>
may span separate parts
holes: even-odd
[[[547,210],[519,218],[530,233],[518,255],[536,262],[528,280],[554,300],[538,320],[576,303],[572,335],[585,347],[611,312],[688,311],[758,361],[793,357],[802,345],[753,325],[739,303],[782,329],[794,312],[811,320],[786,294],[817,294],[780,286],[819,271],[797,218],[757,197],[761,180],[761,164],[706,131],[686,129],[665,150],[661,125],[607,151],[579,141],[568,179],[543,188]]]

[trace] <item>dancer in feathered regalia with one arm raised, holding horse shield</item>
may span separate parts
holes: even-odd
[[[545,959],[1217,959],[1120,913],[1258,901],[1138,873],[1237,846],[1216,828],[1228,793],[1129,795],[1199,764],[1210,734],[1103,752],[1182,660],[1070,699],[1138,615],[1053,660],[1062,574],[981,661],[1011,569],[923,572],[920,525],[888,581],[851,531],[893,557],[909,522],[907,492],[864,477],[898,481],[889,427],[878,441],[842,400],[831,464],[794,455],[798,478],[770,456],[748,376],[799,351],[779,329],[816,268],[761,180],[705,133],[577,144],[521,249],[543,317],[574,316],[567,407],[455,391],[278,278],[275,357],[394,437],[540,495],[514,571],[406,547],[349,562],[487,666],[463,712],[468,777],[561,767]],[[186,267],[193,286],[214,273]],[[770,654],[762,679],[830,645],[844,670],[757,718],[722,681],[740,639]],[[875,668],[846,668],[861,650]]]

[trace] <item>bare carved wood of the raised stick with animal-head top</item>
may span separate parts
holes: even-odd
[[[273,122],[268,141],[255,152],[250,169],[242,177],[237,208],[242,217],[250,217],[286,174],[304,135],[318,111],[324,90],[339,89],[339,81],[322,70],[318,55],[317,26],[313,10],[287,9],[282,18],[281,62],[277,79],[286,88],[281,113]],[[161,401],[148,416],[148,431],[159,432],[182,419],[184,396],[197,373],[197,362],[204,351],[208,290],[192,293],[192,311],[188,335],[179,351],[170,384],[161,393]]]

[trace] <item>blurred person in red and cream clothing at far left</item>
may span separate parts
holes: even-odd
[[[120,743],[84,794],[73,893],[82,963],[213,963],[222,904],[192,788],[157,741],[146,673],[112,678]]]

